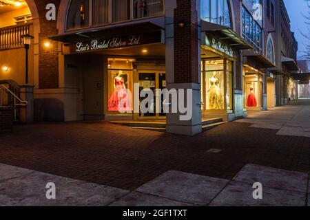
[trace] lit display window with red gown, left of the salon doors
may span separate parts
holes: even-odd
[[[109,58],[107,111],[132,111],[132,59]]]

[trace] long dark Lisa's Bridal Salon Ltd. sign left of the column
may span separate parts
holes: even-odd
[[[76,54],[81,52],[92,52],[96,50],[132,47],[136,45],[144,45],[150,43],[163,43],[161,30],[143,34],[113,36],[106,39],[79,41],[76,43],[65,45],[63,48],[63,54]]]

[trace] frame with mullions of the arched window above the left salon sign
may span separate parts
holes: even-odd
[[[105,24],[98,24],[98,25],[94,25],[93,22],[93,10],[92,10],[92,1],[94,0],[89,0],[89,25],[82,27],[82,28],[68,28],[68,15],[70,12],[70,6],[73,0],[70,0],[70,3],[68,4],[68,8],[67,8],[67,12],[66,12],[66,16],[65,16],[65,32],[72,32],[75,30],[85,30],[88,28],[99,28],[99,27],[105,27],[105,26],[109,26],[109,25],[115,25],[115,24],[119,24],[119,23],[129,23],[132,21],[141,21],[141,20],[145,20],[145,19],[154,19],[157,17],[164,17],[165,16],[165,0],[160,0],[163,1],[163,12],[161,14],[158,14],[156,16],[152,16],[152,17],[143,17],[143,18],[139,18],[139,19],[134,19],[134,0],[130,0],[130,19],[129,20],[125,20],[125,21],[117,21],[117,22],[112,22],[112,1],[113,0],[108,0],[109,3],[109,10],[108,10],[108,23]],[[169,0],[168,0],[169,1]]]

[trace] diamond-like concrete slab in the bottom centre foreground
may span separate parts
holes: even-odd
[[[228,182],[227,179],[172,170],[149,181],[136,191],[203,206],[207,205]]]

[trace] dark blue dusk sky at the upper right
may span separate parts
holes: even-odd
[[[287,7],[287,12],[289,13],[289,18],[291,19],[291,30],[295,32],[296,39],[298,41],[298,58],[303,55],[302,51],[305,50],[307,45],[307,39],[304,39],[300,30],[304,33],[308,32],[308,27],[304,23],[306,19],[302,17],[302,14],[308,15],[310,11],[307,5],[307,1],[304,0],[284,0]],[[310,27],[309,27],[310,28]]]

